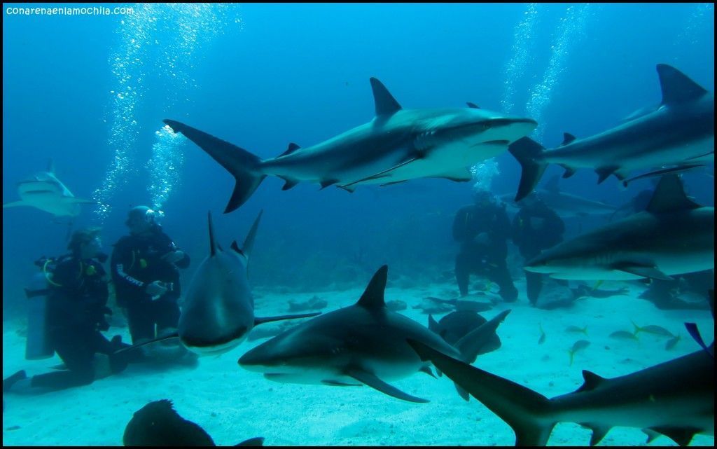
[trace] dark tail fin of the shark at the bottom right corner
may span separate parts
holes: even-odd
[[[542,394],[490,374],[425,344],[408,339],[422,360],[430,360],[443,374],[469,392],[516,433],[516,445],[544,446],[557,421],[551,420],[551,402]]]

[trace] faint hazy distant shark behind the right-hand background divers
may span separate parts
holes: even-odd
[[[592,217],[594,215],[613,214],[617,207],[612,204],[594,201],[579,197],[578,195],[564,192],[559,186],[559,176],[554,176],[542,189],[536,189],[521,201],[514,201],[515,195],[500,195],[500,201],[505,202],[511,207],[520,208],[526,204],[530,204],[534,199],[541,199],[547,207],[553,209],[560,217]]]

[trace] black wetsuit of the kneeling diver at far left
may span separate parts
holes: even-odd
[[[106,274],[95,259],[66,256],[57,263],[47,298],[47,332],[67,370],[38,374],[32,377],[32,387],[65,389],[92,383],[92,361],[98,352],[110,356],[113,372],[126,367],[123,357],[113,352],[128,345],[110,343],[100,333],[109,328],[105,314],[111,313]]]

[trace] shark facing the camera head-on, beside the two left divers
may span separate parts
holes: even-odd
[[[239,346],[250,331],[262,323],[319,315],[320,312],[255,316],[247,266],[263,212],[257,215],[244,245],[239,247],[235,240],[226,251],[214,240],[212,214],[209,212],[209,255],[202,260],[189,283],[177,331],[118,352],[178,338],[186,349],[196,354],[219,355]]]

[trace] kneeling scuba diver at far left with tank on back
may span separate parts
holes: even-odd
[[[115,354],[115,351],[129,345],[123,344],[119,335],[108,341],[102,334],[110,327],[105,315],[111,315],[112,311],[107,307],[108,280],[101,262],[107,256],[100,252],[99,231],[98,228],[78,230],[72,234],[67,247],[69,255],[57,260],[41,260],[48,287],[28,293],[28,296],[44,294],[47,298],[42,340],[50,347],[44,356],[52,356],[57,351],[66,369],[31,378],[21,370],[3,380],[3,392],[78,387],[127,367],[130,356]],[[50,273],[51,267],[54,269]],[[28,327],[32,327],[31,323]]]

